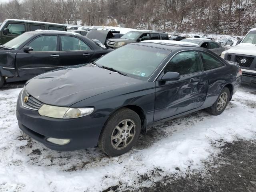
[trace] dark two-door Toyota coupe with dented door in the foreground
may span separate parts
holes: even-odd
[[[240,82],[238,65],[205,48],[133,43],[94,63],[29,80],[18,96],[17,119],[48,148],[98,145],[118,156],[153,124],[204,108],[221,114]]]

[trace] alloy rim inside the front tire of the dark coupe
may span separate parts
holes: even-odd
[[[121,150],[126,148],[134,139],[136,125],[133,120],[125,119],[118,123],[111,135],[113,148]]]

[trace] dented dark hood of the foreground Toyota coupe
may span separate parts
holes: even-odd
[[[26,83],[25,88],[45,104],[71,106],[81,100],[138,83],[141,80],[88,64],[36,76]]]

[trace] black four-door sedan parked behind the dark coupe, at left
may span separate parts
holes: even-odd
[[[0,45],[0,87],[56,68],[90,63],[110,51],[78,33],[26,32]]]

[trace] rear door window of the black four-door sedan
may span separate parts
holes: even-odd
[[[62,51],[80,51],[79,39],[70,36],[61,36]]]

